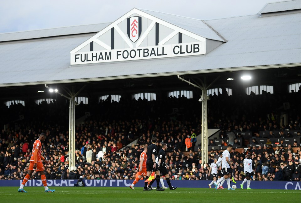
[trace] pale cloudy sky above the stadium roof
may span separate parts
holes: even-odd
[[[0,33],[109,23],[132,8],[209,20],[257,14],[283,0],[3,0]]]

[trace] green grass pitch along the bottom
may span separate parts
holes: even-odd
[[[43,187],[24,187],[28,193],[19,193],[18,187],[0,187],[1,202],[301,202],[301,190],[214,190],[204,188],[177,188],[177,190],[143,191],[126,187],[50,187],[53,193],[44,193]]]

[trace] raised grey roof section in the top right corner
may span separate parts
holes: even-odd
[[[267,3],[259,13],[273,13],[301,9],[301,0]]]

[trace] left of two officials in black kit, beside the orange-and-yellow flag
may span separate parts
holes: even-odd
[[[157,181],[157,190],[163,191],[164,189],[160,188],[159,182],[160,182],[160,172],[158,164],[156,163],[156,151],[157,151],[157,137],[151,138],[151,144],[147,147],[147,160],[146,160],[146,177],[145,180],[147,180],[152,171],[155,171],[156,173],[156,181]],[[144,189],[145,191],[151,190],[149,187],[147,187],[147,181],[144,183]]]

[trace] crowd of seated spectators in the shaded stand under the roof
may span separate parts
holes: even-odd
[[[280,127],[277,123],[279,120],[277,112],[274,111],[275,109],[269,109],[274,97],[271,94],[249,95],[234,101],[231,96],[212,96],[208,104],[208,128],[220,128],[225,132],[249,129],[258,133],[264,129],[264,126],[270,126],[270,123]],[[261,102],[256,102],[258,98]],[[275,101],[277,100],[274,100],[274,103],[277,103]],[[235,107],[236,102],[246,105],[253,102],[253,104],[248,108],[244,105]],[[217,103],[224,105],[217,105]],[[230,103],[231,105],[228,105]],[[268,112],[268,117],[263,117],[263,114],[257,117],[251,114],[254,109],[258,112],[263,111],[265,108],[262,107],[263,104],[269,106],[264,110],[265,113]],[[293,104],[294,101],[291,105],[292,110],[288,112],[292,122],[283,127],[285,129],[293,127],[297,130],[300,129],[300,117],[294,110],[299,106]],[[230,110],[228,110],[229,106]],[[171,166],[169,173],[172,179],[211,179],[210,176],[207,177],[208,167],[217,153],[214,156],[210,154],[209,163],[205,163],[204,166],[200,149],[195,152],[193,149],[185,152],[186,138],[192,133],[199,135],[201,132],[200,109],[198,101],[185,97],[179,99],[170,97],[164,101],[121,99],[119,103],[106,100],[97,105],[79,104],[76,107],[77,114],[81,115],[82,112],[87,111],[94,113],[83,124],[76,127],[77,170],[69,171],[67,154],[69,134],[66,127],[68,112],[65,106],[57,105],[55,101],[51,104],[32,104],[26,108],[18,104],[13,104],[9,109],[3,106],[1,111],[9,115],[7,119],[13,117],[11,114],[21,112],[24,120],[9,122],[8,128],[0,132],[0,179],[24,178],[29,166],[31,147],[42,132],[47,136],[42,153],[50,161],[50,164],[45,166],[47,179],[78,179],[80,176],[85,179],[135,179],[138,158],[143,151],[143,146],[150,143],[152,136],[157,136],[158,148],[161,142],[166,142],[168,145],[166,162]],[[125,147],[135,139],[138,139],[137,145]],[[251,151],[253,149],[248,150],[252,153],[255,179],[258,180],[266,180],[268,172],[273,178],[273,174],[276,175],[278,171],[283,173],[281,179],[288,179],[285,175],[286,168],[289,168],[291,175],[288,177],[292,179],[294,173],[291,172],[295,170],[292,167],[300,164],[300,162],[288,162],[289,157],[292,160],[299,160],[300,148],[294,153],[291,150],[290,153],[289,150],[276,153],[272,152],[271,148],[262,149],[262,152],[259,151],[261,153]],[[243,178],[241,170],[244,155],[245,152],[238,151],[232,154],[231,161],[235,166],[233,177],[237,180]],[[278,160],[281,161],[278,163]],[[38,176],[39,174],[34,172],[32,177],[40,179]],[[268,180],[271,180],[270,176]]]

